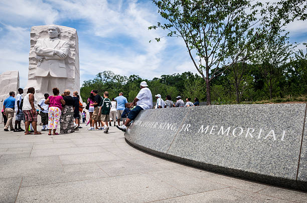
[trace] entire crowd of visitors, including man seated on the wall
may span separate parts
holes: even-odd
[[[41,134],[37,130],[37,116],[41,116],[42,130],[48,130],[49,135],[56,135],[56,130],[60,126],[60,133],[72,133],[75,130],[82,128],[80,126],[80,118],[83,123],[86,121],[87,114],[84,107],[89,112],[88,130],[104,130],[108,133],[111,122],[113,125],[122,131],[125,131],[129,123],[143,109],[152,108],[152,94],[146,81],[140,83],[140,90],[132,102],[128,102],[127,98],[120,92],[117,97],[109,99],[109,92],[104,91],[103,96],[98,94],[98,91],[93,89],[86,101],[86,106],[80,102],[80,96],[77,91],[71,92],[66,89],[61,95],[57,87],[52,89],[53,95],[45,93],[43,99],[37,102],[35,98],[35,89],[28,88],[27,94],[23,98],[24,90],[18,89],[18,94],[15,97],[15,92],[11,91],[10,96],[3,103],[2,114],[4,117],[5,131],[14,132],[25,131],[25,134]],[[199,99],[194,98],[194,103],[191,98],[186,98],[186,103],[181,96],[177,96],[174,104],[170,95],[163,100],[161,94],[155,95],[157,99],[154,108],[170,108],[197,106]],[[13,126],[13,117],[16,113],[15,127]],[[122,119],[122,124],[120,120]],[[25,129],[21,128],[21,121],[25,122]]]

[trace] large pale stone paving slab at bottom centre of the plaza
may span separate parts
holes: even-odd
[[[146,202],[184,193],[149,174],[21,187],[17,202]]]

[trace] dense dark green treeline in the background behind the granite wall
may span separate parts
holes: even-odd
[[[267,100],[287,96],[305,96],[307,94],[307,57],[301,54],[295,60],[275,68],[270,64],[236,63],[210,83],[211,98],[222,103],[239,103],[241,101]],[[109,97],[123,92],[128,101],[132,101],[139,91],[139,84],[145,80],[152,92],[160,93],[165,99],[171,95],[173,100],[181,95],[183,98],[198,97],[206,101],[206,83],[198,74],[192,72],[161,75],[151,80],[138,75],[123,76],[112,71],[99,72],[93,79],[83,82],[81,97],[86,101],[92,89],[100,95],[109,91]]]

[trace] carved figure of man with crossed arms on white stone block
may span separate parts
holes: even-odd
[[[51,93],[53,87],[66,88],[67,68],[65,58],[69,53],[69,42],[59,39],[60,29],[48,27],[49,38],[38,39],[34,46],[37,54],[37,70],[40,92]],[[61,86],[58,86],[61,85]]]

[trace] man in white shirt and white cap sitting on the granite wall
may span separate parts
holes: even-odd
[[[131,107],[136,105],[128,114],[128,118],[126,119],[126,122],[123,125],[116,125],[116,127],[122,131],[126,131],[128,124],[131,122],[131,120],[134,120],[135,117],[138,115],[138,113],[143,109],[149,109],[152,108],[152,94],[150,89],[147,87],[147,83],[145,81],[142,81],[140,83],[140,90],[136,97],[133,99],[133,102],[131,104]]]

